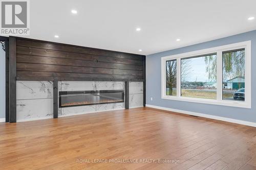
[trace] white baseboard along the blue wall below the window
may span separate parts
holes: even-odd
[[[234,123],[234,124],[240,124],[240,125],[256,127],[256,123],[247,122],[247,121],[244,121],[244,120],[232,119],[232,118],[221,117],[221,116],[214,116],[214,115],[197,113],[197,112],[190,112],[190,111],[179,110],[179,109],[172,109],[172,108],[167,108],[167,107],[147,105],[147,104],[146,104],[146,107],[151,107],[151,108],[160,109],[160,110],[166,110],[166,111],[172,111],[172,112],[178,112],[178,113],[183,113],[183,114],[189,114],[189,115],[205,117],[205,118],[210,118],[210,119],[222,120],[224,122],[230,122],[230,123]]]

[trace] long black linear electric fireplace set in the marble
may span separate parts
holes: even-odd
[[[124,90],[59,91],[59,107],[124,102]]]

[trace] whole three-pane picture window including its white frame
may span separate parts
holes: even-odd
[[[162,99],[251,108],[251,42],[162,57]]]

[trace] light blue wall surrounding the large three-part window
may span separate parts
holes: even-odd
[[[248,40],[251,40],[251,109],[161,99],[161,57]],[[146,104],[256,123],[256,30],[146,56]]]

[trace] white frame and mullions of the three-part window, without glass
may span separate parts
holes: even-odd
[[[245,101],[229,101],[222,99],[222,52],[245,48]],[[181,59],[217,53],[217,99],[188,98],[181,96]],[[166,95],[166,61],[177,60],[177,95]],[[251,108],[251,41],[222,45],[204,50],[161,58],[161,97],[167,100]]]

